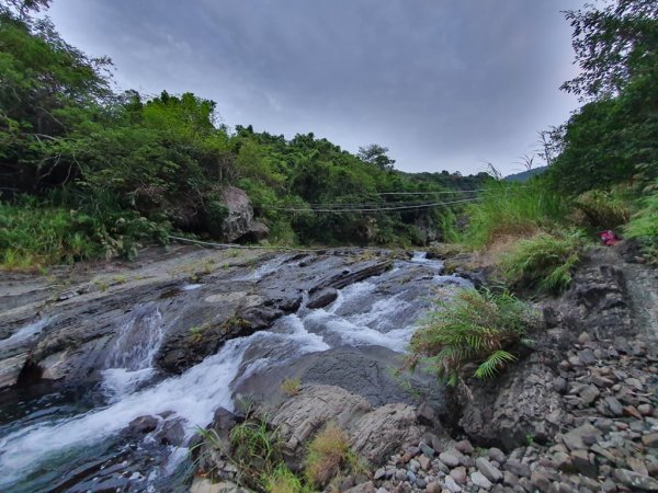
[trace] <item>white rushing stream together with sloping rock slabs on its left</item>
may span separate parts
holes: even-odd
[[[0,488],[185,490],[189,440],[215,410],[276,402],[288,376],[418,403],[400,352],[434,298],[469,285],[421,254],[360,249],[172,246],[4,274]]]

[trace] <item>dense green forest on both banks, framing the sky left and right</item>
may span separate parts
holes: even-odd
[[[560,204],[551,215],[563,220],[592,204],[624,203],[624,214],[636,215],[629,234],[648,249],[655,243],[654,1],[617,0],[567,12],[581,73],[563,89],[579,94],[583,106],[563,126],[542,133],[540,156],[548,171],[530,187],[507,186],[504,207],[500,196],[496,205],[487,202],[501,188],[486,173],[404,173],[378,145],[352,154],[313,133],[286,140],[251,126],[228,128],[219,124],[214,102],[192,93],[117,93],[107,59],[70,46],[37,14],[47,4],[0,0],[0,264],[5,268],[129,257],[140,244],[166,242],[173,231],[220,239],[227,214],[222,192],[228,185],[247,192],[271,244],[422,244],[427,228],[481,244],[481,238],[495,236],[487,221],[504,229],[508,220],[495,213],[500,216],[517,198],[525,200],[523,207]],[[460,191],[484,186],[491,193],[467,207],[470,231],[456,231],[463,204],[455,198],[474,197]],[[424,207],[429,204],[440,205]],[[487,213],[492,216],[485,220]],[[591,226],[617,226],[600,222]]]

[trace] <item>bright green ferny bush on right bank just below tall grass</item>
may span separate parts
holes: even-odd
[[[566,234],[542,231],[519,240],[509,253],[501,255],[499,267],[515,288],[558,294],[571,284],[583,246],[585,237],[578,230]]]

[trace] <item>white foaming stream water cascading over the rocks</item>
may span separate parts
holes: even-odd
[[[279,256],[240,280],[258,282],[287,259]],[[381,276],[340,289],[328,307],[311,310],[303,303],[270,330],[231,340],[173,377],[154,367],[164,331],[158,305],[135,307],[117,321],[101,385],[73,398],[49,394],[22,402],[23,414],[2,423],[0,490],[175,490],[172,478],[180,474],[177,468],[185,461],[186,449],[159,436],[178,426],[186,443],[218,406],[234,409],[232,389],[240,381],[305,354],[345,345],[404,352],[416,322],[431,306],[428,289],[442,288],[445,294],[469,285],[441,274],[440,262],[417,253]],[[30,325],[16,337],[41,329]],[[157,429],[146,437],[126,434],[128,424],[145,415],[158,420]]]

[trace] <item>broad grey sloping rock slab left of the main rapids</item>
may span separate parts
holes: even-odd
[[[390,264],[384,255],[361,260],[358,251],[274,256],[172,248],[121,271],[63,272],[53,284],[9,277],[0,284],[0,299],[11,301],[0,313],[0,389],[98,380],[122,326],[144,310],[160,320],[156,365],[178,374],[296,311],[305,290],[344,287]]]

